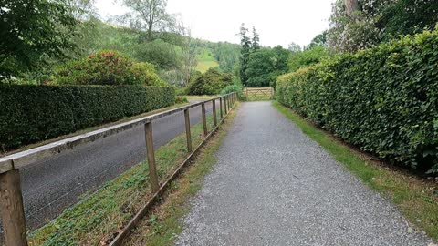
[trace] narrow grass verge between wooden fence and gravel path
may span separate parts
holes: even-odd
[[[204,176],[212,169],[217,159],[214,153],[221,146],[235,110],[224,121],[200,154],[187,167],[179,179],[172,182],[171,188],[163,195],[162,202],[156,206],[148,218],[141,220],[131,232],[124,245],[172,245],[176,235],[183,231],[182,219],[190,211],[190,199],[202,188]]]

